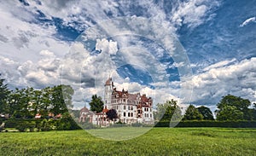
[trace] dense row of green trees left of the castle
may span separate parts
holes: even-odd
[[[49,118],[68,112],[72,105],[73,89],[69,85],[56,85],[35,90],[32,87],[9,90],[0,79],[0,114],[7,118],[34,118],[40,114]]]

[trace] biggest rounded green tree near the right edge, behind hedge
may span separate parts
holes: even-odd
[[[217,119],[222,118],[231,118],[234,117],[234,120],[237,119],[246,119],[246,120],[251,120],[253,119],[253,114],[249,110],[249,106],[251,105],[251,102],[247,99],[242,99],[241,97],[237,97],[235,95],[225,95],[222,100],[217,104],[218,110],[216,111],[217,113]],[[228,113],[230,117],[227,117],[226,111],[232,111],[232,113]],[[223,111],[225,113],[223,113]],[[233,116],[235,113],[236,116]],[[241,116],[241,114],[243,114]],[[224,117],[222,117],[224,116]],[[240,117],[240,118],[238,118]]]

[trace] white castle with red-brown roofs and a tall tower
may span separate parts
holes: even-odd
[[[128,90],[116,90],[112,78],[106,81],[104,90],[104,109],[101,113],[91,113],[86,107],[80,111],[80,122],[88,118],[92,124],[108,126],[107,112],[115,109],[118,117],[116,122],[125,124],[154,124],[153,99],[140,93],[131,94]]]

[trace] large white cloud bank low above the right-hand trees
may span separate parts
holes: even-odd
[[[203,73],[195,75],[186,84],[194,87],[192,101],[201,104],[217,104],[222,96],[238,95],[255,101],[256,98],[256,58],[241,62],[223,61],[212,65]],[[222,66],[221,66],[222,65]],[[213,67],[215,66],[215,67]]]

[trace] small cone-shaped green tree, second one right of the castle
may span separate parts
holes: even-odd
[[[204,118],[203,115],[199,113],[199,111],[193,105],[189,105],[185,115],[183,116],[183,120],[200,120],[202,118]]]

